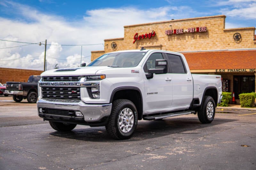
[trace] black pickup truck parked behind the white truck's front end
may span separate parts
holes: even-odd
[[[28,82],[6,82],[6,94],[13,95],[12,98],[16,102],[27,99],[29,103],[36,103],[38,92],[37,86],[40,76],[29,76]]]

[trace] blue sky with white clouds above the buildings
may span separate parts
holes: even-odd
[[[87,65],[124,26],[214,15],[256,27],[256,0],[0,0],[0,67],[44,70],[45,40],[47,70]]]

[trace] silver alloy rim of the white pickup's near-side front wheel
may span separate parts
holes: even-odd
[[[124,108],[118,117],[119,129],[124,133],[130,132],[134,123],[132,110],[130,108]]]

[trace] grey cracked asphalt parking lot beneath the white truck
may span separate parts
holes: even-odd
[[[36,104],[0,96],[0,169],[256,169],[256,109],[217,112],[211,124],[194,114],[139,121],[119,141],[105,127],[57,132]]]

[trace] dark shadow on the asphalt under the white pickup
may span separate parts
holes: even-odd
[[[227,122],[237,121],[235,119],[218,119],[215,118],[210,124],[202,124],[197,118],[167,118],[155,121],[139,121],[137,128],[130,139],[115,140],[106,131],[105,127],[91,127],[78,129],[75,128],[70,132],[52,132],[50,135],[74,140],[90,142],[124,142],[124,141],[141,141],[151,138],[164,137],[172,134],[198,134],[203,136],[211,133],[207,127],[221,129],[218,126]],[[222,128],[223,129],[223,128]],[[192,131],[192,132],[191,132]]]

